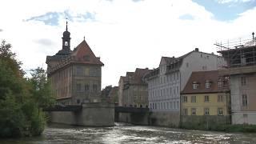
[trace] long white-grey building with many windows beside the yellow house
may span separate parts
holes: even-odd
[[[186,86],[190,74],[193,71],[218,70],[223,63],[222,58],[200,52],[198,48],[179,58],[162,57],[159,67],[146,75],[150,110],[159,112],[155,113],[154,121],[159,119],[156,125],[178,126],[180,91]],[[160,119],[162,115],[164,118]],[[165,121],[167,123],[161,124]]]

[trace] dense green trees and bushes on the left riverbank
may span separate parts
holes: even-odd
[[[0,138],[42,134],[46,124],[43,108],[54,105],[50,81],[42,68],[25,78],[11,45],[0,46]],[[29,56],[29,55],[28,55]]]

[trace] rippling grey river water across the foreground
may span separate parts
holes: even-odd
[[[180,130],[156,126],[131,126],[116,123],[114,127],[81,127],[50,125],[40,137],[0,139],[12,143],[256,143],[256,134]]]

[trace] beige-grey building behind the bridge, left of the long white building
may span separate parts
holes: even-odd
[[[148,107],[148,92],[147,84],[143,80],[143,76],[149,73],[150,70],[136,69],[134,73],[126,73],[126,77],[121,77],[119,84],[122,92],[119,93],[119,101],[122,101],[121,106],[125,107]],[[122,94],[122,95],[121,95]]]

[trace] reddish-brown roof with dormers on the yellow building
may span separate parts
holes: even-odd
[[[226,89],[224,87],[218,87],[218,80],[218,70],[193,72],[190,75],[190,78],[181,94],[207,94],[223,92]],[[210,88],[206,88],[206,81],[210,82]],[[193,83],[198,84],[198,89],[193,89]]]

